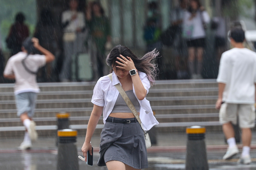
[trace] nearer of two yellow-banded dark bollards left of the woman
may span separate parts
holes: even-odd
[[[79,170],[76,136],[76,130],[58,130],[57,170]]]

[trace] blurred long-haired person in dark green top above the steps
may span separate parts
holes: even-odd
[[[86,10],[86,20],[92,35],[92,40],[97,47],[97,70],[98,76],[104,76],[105,44],[111,41],[110,25],[108,18],[104,16],[104,10],[98,2],[91,2]]]

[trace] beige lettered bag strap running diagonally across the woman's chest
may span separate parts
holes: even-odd
[[[108,77],[110,78],[110,80],[112,81],[112,73],[110,73],[108,75]],[[123,97],[125,103],[127,104],[127,106],[131,109],[133,115],[135,116],[135,118],[137,119],[137,121],[140,123],[140,126],[142,128],[142,130],[144,131],[144,128],[142,126],[141,120],[140,120],[140,116],[138,115],[135,107],[133,106],[131,100],[129,99],[129,97],[127,96],[127,94],[125,93],[124,89],[122,88],[122,86],[118,83],[115,85],[116,89],[119,91],[119,93],[121,94],[121,96]]]

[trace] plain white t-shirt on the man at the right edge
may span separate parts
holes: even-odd
[[[256,53],[232,48],[221,55],[218,83],[226,84],[222,100],[227,103],[254,104]]]

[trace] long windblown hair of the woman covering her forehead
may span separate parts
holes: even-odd
[[[156,81],[157,75],[157,66],[154,63],[156,56],[159,55],[159,52],[154,49],[153,51],[148,52],[143,57],[138,58],[132,51],[125,46],[117,45],[115,46],[107,56],[106,62],[112,68],[116,66],[116,61],[119,61],[116,57],[120,57],[120,54],[125,58],[130,57],[136,67],[136,69],[140,72],[146,73],[148,75],[148,79],[150,81],[150,85],[153,85]],[[113,68],[110,70],[110,73],[113,72]]]

